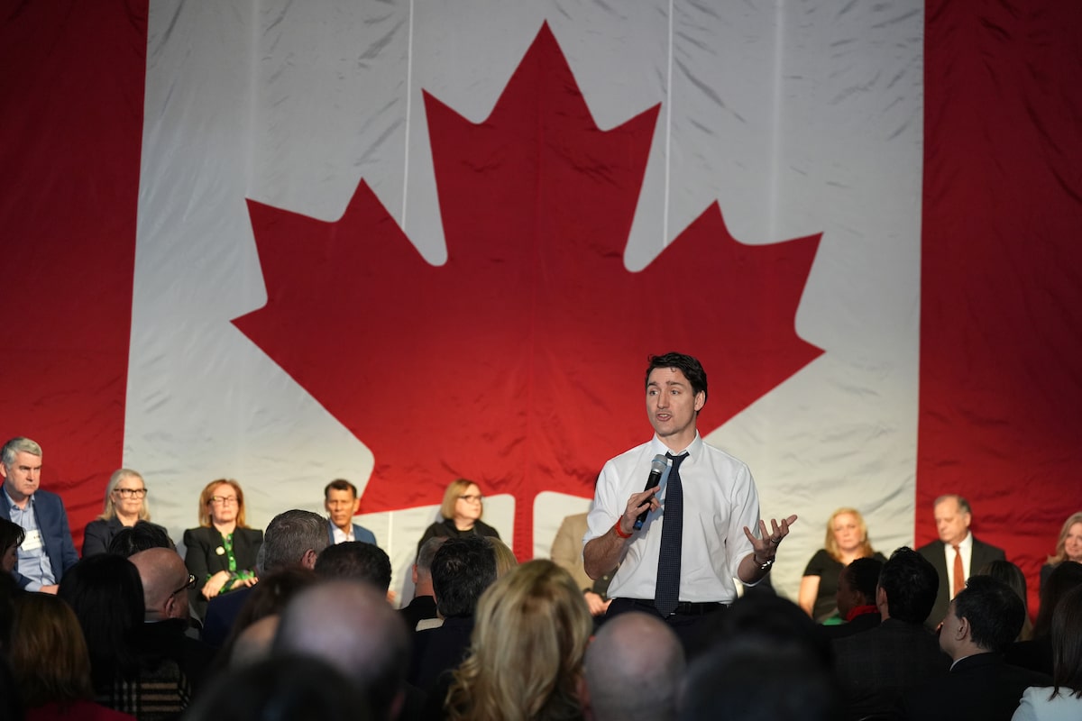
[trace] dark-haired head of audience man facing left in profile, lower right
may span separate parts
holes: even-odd
[[[1014,590],[991,576],[971,576],[950,602],[939,646],[958,660],[975,653],[1002,653],[1014,643],[1026,606]]]

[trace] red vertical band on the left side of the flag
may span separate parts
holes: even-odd
[[[3,5],[0,435],[41,443],[80,547],[123,446],[147,3]]]

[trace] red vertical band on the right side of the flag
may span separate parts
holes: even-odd
[[[1082,5],[932,0],[925,17],[916,543],[937,495],[966,496],[1034,611],[1082,509]]]

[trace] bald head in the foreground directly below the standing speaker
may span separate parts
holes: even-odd
[[[580,694],[595,721],[676,718],[684,647],[660,618],[623,613],[606,622],[586,649]]]

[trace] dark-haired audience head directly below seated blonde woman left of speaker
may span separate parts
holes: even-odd
[[[480,536],[448,538],[432,559],[436,610],[444,618],[472,616],[480,595],[496,580],[496,553]]]

